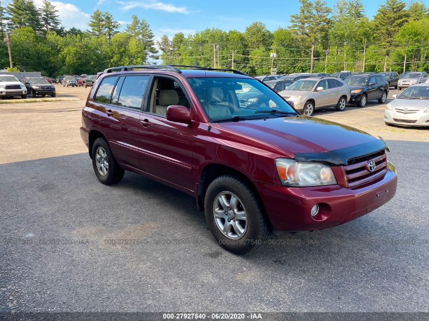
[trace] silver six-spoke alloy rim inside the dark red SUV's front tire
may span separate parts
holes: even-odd
[[[220,192],[213,203],[218,229],[230,239],[239,239],[247,231],[248,219],[243,202],[232,192]]]

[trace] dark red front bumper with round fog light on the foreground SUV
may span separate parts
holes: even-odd
[[[369,186],[350,189],[339,185],[287,187],[253,181],[275,229],[315,230],[337,226],[361,217],[389,201],[398,177],[391,170]],[[321,204],[316,218],[311,208]]]

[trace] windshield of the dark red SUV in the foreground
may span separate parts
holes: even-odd
[[[210,121],[238,121],[297,115],[279,95],[255,79],[189,78]],[[243,87],[250,89],[243,92]]]

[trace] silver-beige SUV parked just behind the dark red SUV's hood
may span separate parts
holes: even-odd
[[[343,111],[350,99],[349,86],[340,78],[309,77],[295,81],[279,94],[301,114],[312,116],[316,109],[335,106]]]

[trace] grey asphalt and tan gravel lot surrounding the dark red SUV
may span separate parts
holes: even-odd
[[[88,92],[0,105],[0,311],[429,312],[427,129],[385,126],[378,103],[317,112],[388,140],[397,195],[342,226],[275,232],[240,257],[192,197],[129,172],[98,183],[79,136]]]

